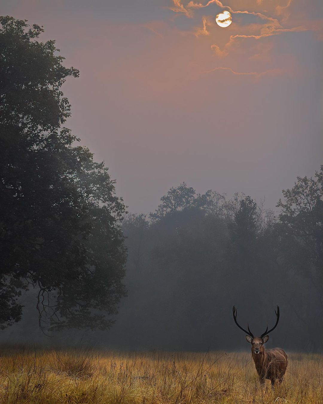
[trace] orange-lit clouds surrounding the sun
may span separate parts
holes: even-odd
[[[225,1],[225,0],[224,0]],[[176,11],[178,12],[182,12],[184,13],[187,17],[194,17],[195,15],[195,10],[197,9],[204,9],[208,6],[212,7],[212,4],[218,8],[221,9],[227,9],[229,10],[232,15],[241,15],[241,17],[243,15],[249,15],[249,16],[254,16],[255,19],[257,19],[257,21],[254,21],[253,23],[250,23],[249,25],[240,25],[239,21],[237,21],[237,23],[235,24],[235,26],[233,27],[233,31],[231,31],[232,35],[229,36],[227,35],[227,32],[223,31],[222,32],[215,32],[215,30],[213,29],[213,25],[215,24],[213,19],[211,19],[210,17],[203,16],[202,19],[202,26],[199,27],[195,27],[193,29],[193,32],[191,31],[191,33],[193,33],[196,37],[199,36],[204,36],[205,40],[203,42],[203,46],[208,46],[211,47],[212,53],[213,55],[218,58],[218,59],[224,59],[226,57],[231,58],[231,53],[235,54],[239,54],[240,56],[243,54],[243,47],[240,46],[240,38],[243,40],[247,40],[247,39],[254,39],[254,40],[260,40],[262,38],[267,38],[267,37],[271,37],[271,36],[277,36],[280,34],[283,34],[285,32],[302,32],[302,31],[318,31],[320,32],[320,29],[316,26],[316,24],[314,25],[313,23],[307,25],[306,21],[298,21],[297,19],[294,19],[294,26],[292,24],[289,24],[289,27],[284,27],[281,24],[285,25],[285,19],[281,19],[279,18],[279,20],[275,15],[275,10],[279,10],[280,14],[283,14],[283,11],[286,10],[287,8],[289,8],[289,6],[292,5],[293,0],[281,0],[281,6],[274,6],[271,8],[272,13],[268,13],[267,11],[265,11],[265,9],[257,9],[255,11],[248,11],[248,10],[234,10],[231,6],[226,6],[224,2],[222,2],[221,0],[187,0],[187,2],[184,2],[183,0],[172,0],[172,2],[174,3],[174,9],[176,9]],[[261,4],[262,6],[265,5],[266,2],[264,2],[263,0],[258,0],[257,4]],[[185,4],[185,6],[183,5]],[[246,8],[249,9],[249,4],[251,4],[250,2],[246,5]],[[277,4],[277,3],[276,3]],[[255,5],[255,3],[254,3]],[[211,8],[210,7],[210,8]],[[260,12],[258,12],[258,10]],[[264,13],[264,14],[263,14]],[[266,15],[268,14],[268,15]],[[285,15],[286,13],[284,13]],[[237,19],[238,20],[238,19]],[[262,21],[259,21],[262,20]],[[302,25],[300,25],[302,24]],[[292,25],[292,26],[291,26]],[[296,26],[295,26],[296,25]],[[318,24],[319,25],[319,24]],[[212,34],[212,35],[211,35]],[[216,43],[209,42],[210,38],[213,37],[213,34],[216,34]],[[228,38],[229,37],[229,38]],[[209,39],[207,39],[209,38]],[[252,46],[250,46],[249,43],[248,44],[248,48],[247,48],[247,55],[246,53],[244,53],[246,59],[249,59],[250,62],[252,63],[265,63],[271,62],[272,59],[272,53],[269,54],[271,52],[271,50],[273,49],[273,43],[270,43],[273,41],[266,41],[264,43],[264,48],[260,48],[260,45],[262,45],[262,42],[260,42],[259,46],[258,44],[254,43],[252,44]],[[210,49],[210,48],[209,48]],[[231,63],[230,63],[231,64]],[[277,75],[277,74],[281,74],[281,70],[279,69],[271,69],[271,70],[266,70],[265,72],[255,72],[255,70],[259,69],[269,69],[272,68],[273,66],[268,66],[268,65],[262,65],[263,67],[261,67],[259,65],[259,67],[250,67],[250,68],[246,68],[246,70],[250,70],[250,72],[235,72],[235,70],[231,69],[231,67],[224,67],[223,69],[227,69],[230,70],[230,72],[232,74],[239,74],[241,76],[253,76],[255,78],[260,78],[262,76],[268,76],[268,75]],[[265,67],[264,67],[265,66]],[[212,67],[212,65],[210,66]],[[218,68],[216,68],[218,69]]]

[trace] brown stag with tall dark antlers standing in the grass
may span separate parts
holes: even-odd
[[[279,383],[283,381],[283,377],[285,375],[285,371],[287,368],[287,355],[286,352],[281,348],[273,348],[273,349],[264,349],[264,344],[268,341],[269,332],[275,330],[277,324],[279,322],[279,306],[277,305],[276,313],[276,324],[268,331],[268,325],[266,331],[260,335],[260,337],[254,337],[252,332],[250,331],[249,324],[248,330],[245,330],[241,326],[239,326],[237,322],[237,309],[233,306],[233,318],[235,320],[235,324],[244,332],[247,333],[245,339],[252,345],[251,354],[252,359],[254,360],[254,364],[256,366],[256,370],[259,376],[260,385],[263,387],[265,385],[265,379],[269,379],[271,381],[272,387],[275,384],[276,379],[278,379]]]

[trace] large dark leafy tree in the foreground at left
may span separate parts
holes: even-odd
[[[70,105],[42,27],[0,17],[0,323],[21,318],[37,288],[40,326],[108,328],[126,295],[125,213],[104,163],[61,127]]]

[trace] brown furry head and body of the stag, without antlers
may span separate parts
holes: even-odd
[[[287,354],[281,348],[265,350],[264,342],[268,341],[268,338],[264,341],[266,337],[252,338],[251,353],[261,385],[265,384],[265,379],[269,379],[273,386],[276,379],[279,383],[283,381],[287,368]],[[255,349],[259,349],[260,353],[255,353]]]

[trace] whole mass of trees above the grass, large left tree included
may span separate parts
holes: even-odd
[[[232,306],[257,335],[279,304],[268,345],[322,349],[323,166],[283,190],[279,215],[186,183],[127,214],[105,163],[63,126],[61,86],[78,70],[42,27],[0,24],[1,340],[37,343],[41,329],[66,343],[78,329],[117,348],[234,350]]]

